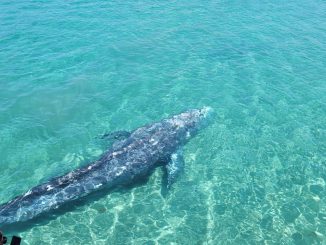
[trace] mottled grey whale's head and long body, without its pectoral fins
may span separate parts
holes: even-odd
[[[131,184],[149,175],[162,159],[171,161],[171,156],[206,124],[210,112],[209,107],[192,109],[134,130],[97,161],[0,205],[0,227],[30,220],[97,189]]]

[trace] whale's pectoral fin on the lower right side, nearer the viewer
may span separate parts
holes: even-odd
[[[184,170],[184,158],[182,154],[182,150],[179,149],[176,153],[171,155],[170,161],[166,165],[166,173],[167,173],[167,180],[166,180],[166,187],[170,189],[173,183],[177,180],[180,174]]]

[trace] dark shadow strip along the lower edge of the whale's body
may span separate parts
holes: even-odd
[[[150,176],[150,175],[148,175],[148,176]],[[123,193],[130,191],[133,188],[145,185],[149,180],[148,176],[139,178],[139,179],[133,181],[133,183],[131,183],[131,184],[126,184],[126,185],[118,186],[115,188],[107,188],[106,187],[106,188],[94,191],[92,193],[89,193],[86,196],[83,196],[76,200],[67,202],[67,203],[61,205],[58,209],[48,211],[44,214],[40,214],[39,216],[37,216],[31,220],[4,225],[1,227],[1,230],[5,231],[5,233],[7,233],[7,234],[8,233],[9,234],[13,234],[13,233],[17,234],[17,233],[21,233],[26,230],[29,230],[35,226],[47,225],[51,220],[54,220],[57,217],[64,215],[66,213],[73,212],[77,208],[80,208],[82,206],[88,206],[91,203],[100,200],[101,198],[109,195],[112,192],[120,192],[121,194],[123,194]]]

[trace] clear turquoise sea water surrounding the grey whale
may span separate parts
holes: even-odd
[[[0,2],[0,202],[96,159],[105,132],[211,106],[166,197],[91,195],[24,244],[326,244],[326,2]]]

